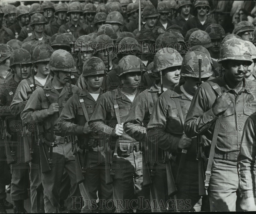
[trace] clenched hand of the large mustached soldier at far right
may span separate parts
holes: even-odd
[[[232,101],[230,100],[228,94],[224,92],[215,100],[214,104],[212,105],[212,112],[215,116],[218,116],[222,112],[225,112],[231,103]]]

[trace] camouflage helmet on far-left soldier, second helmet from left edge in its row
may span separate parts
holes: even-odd
[[[31,63],[31,56],[29,52],[23,48],[15,49],[10,55],[10,66]]]

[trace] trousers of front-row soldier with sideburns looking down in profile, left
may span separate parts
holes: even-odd
[[[46,154],[49,158],[49,147],[44,144]],[[68,197],[67,204],[72,204],[72,207],[68,209],[72,212],[79,212],[79,208],[76,208],[75,201],[81,198],[79,185],[76,179],[76,165],[75,159],[71,152],[71,142],[64,144],[58,144],[53,148],[52,163],[50,164],[51,170],[46,173],[42,173],[42,185],[44,188],[44,203],[45,212],[61,212],[60,211],[60,190],[61,181],[63,177],[64,169],[66,169],[70,178],[70,195]]]

